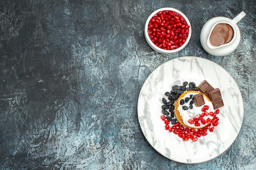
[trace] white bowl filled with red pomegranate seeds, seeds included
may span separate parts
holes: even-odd
[[[191,24],[181,11],[161,8],[154,11],[145,24],[148,45],[162,54],[179,52],[191,37]]]

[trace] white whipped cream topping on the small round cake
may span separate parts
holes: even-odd
[[[185,98],[187,98],[187,97],[189,98],[191,94],[195,95],[195,94],[198,94],[198,93],[195,93],[195,92],[187,93],[187,94],[185,94],[185,95],[183,96],[183,98],[180,98],[179,100],[177,100],[177,102],[180,103],[180,100],[182,100],[182,99],[185,100]],[[191,101],[191,100],[189,100],[189,102],[190,102],[190,101]],[[198,118],[199,115],[200,115],[201,113],[203,113],[201,109],[204,107],[204,105],[208,105],[208,106],[209,106],[209,109],[207,110],[208,113],[211,112],[211,111],[214,112],[213,105],[212,105],[211,101],[209,101],[209,100],[204,96],[204,102],[205,102],[204,105],[197,107],[197,106],[195,106],[195,103],[194,103],[192,109],[188,109],[188,110],[182,109],[182,106],[187,106],[187,107],[189,107],[189,102],[186,102],[184,105],[179,105],[178,108],[177,108],[177,110],[180,112],[180,116],[182,117],[182,120],[183,120],[184,124],[186,124],[187,126],[190,126],[190,127],[194,127],[194,128],[202,128],[202,127],[204,127],[206,124],[201,124],[200,126],[195,126],[195,124],[190,124],[190,123],[188,122],[188,120],[189,120],[189,119],[192,119],[192,120],[193,120],[194,117],[195,117],[195,118]],[[213,116],[208,115],[208,116],[204,116],[203,118],[204,118],[205,120],[207,120],[207,118],[212,119]]]

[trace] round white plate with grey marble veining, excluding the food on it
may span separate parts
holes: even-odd
[[[198,141],[183,141],[165,130],[162,98],[173,85],[207,80],[220,88],[225,106],[220,108],[218,126]],[[243,99],[231,75],[220,65],[200,57],[180,57],[160,65],[146,79],[138,99],[138,119],[146,139],[157,152],[181,163],[211,160],[231,146],[243,122]]]

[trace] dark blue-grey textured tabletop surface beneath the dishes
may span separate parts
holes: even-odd
[[[189,44],[176,54],[154,52],[144,38],[148,15],[162,7],[179,9],[192,25]],[[204,23],[241,11],[236,51],[207,54]],[[0,169],[255,169],[255,11],[255,0],[1,0]],[[163,157],[137,118],[147,76],[182,56],[221,65],[244,100],[238,138],[205,163]]]

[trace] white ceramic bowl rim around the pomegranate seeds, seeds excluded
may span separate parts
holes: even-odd
[[[179,48],[176,48],[176,49],[173,49],[173,50],[164,50],[162,48],[159,48],[158,46],[156,46],[150,39],[149,35],[148,35],[148,24],[150,22],[150,19],[153,17],[153,16],[157,16],[157,13],[159,11],[174,11],[176,12],[177,14],[180,14],[182,17],[184,17],[186,23],[190,26],[189,28],[189,34],[188,34],[188,37],[185,41],[185,43],[180,46]],[[172,53],[175,53],[175,52],[179,52],[180,50],[182,50],[188,43],[189,43],[189,40],[190,40],[190,37],[191,37],[191,24],[189,22],[189,19],[186,17],[186,15],[184,15],[184,13],[182,13],[181,11],[177,10],[177,9],[174,9],[174,8],[169,8],[169,7],[166,7],[166,8],[161,8],[161,9],[157,9],[156,11],[154,11],[151,15],[149,15],[147,21],[146,21],[146,24],[145,24],[145,31],[144,31],[144,35],[145,35],[145,38],[146,38],[146,41],[148,42],[148,45],[153,48],[153,50],[159,52],[159,53],[162,53],[162,54],[172,54]]]

